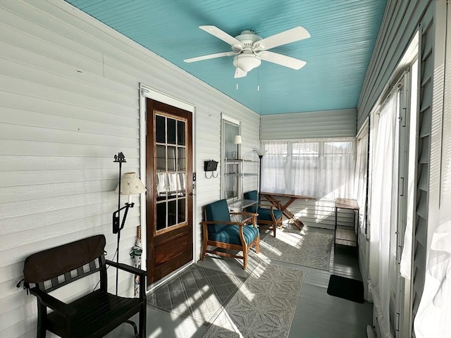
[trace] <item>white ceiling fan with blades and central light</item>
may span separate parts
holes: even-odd
[[[271,35],[271,37],[266,37],[265,39],[256,35],[252,30],[244,30],[237,37],[232,37],[216,26],[199,26],[199,28],[230,44],[232,51],[187,58],[184,60],[185,62],[196,62],[208,60],[209,58],[235,55],[233,58],[235,77],[245,77],[247,72],[257,68],[261,64],[261,60],[277,63],[278,65],[296,70],[304,67],[306,64],[305,61],[298,60],[297,58],[268,51],[268,49],[283,44],[309,38],[310,34],[304,27],[298,26],[290,30],[285,30],[285,32]]]

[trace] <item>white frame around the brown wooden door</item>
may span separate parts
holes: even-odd
[[[156,90],[146,84],[140,83],[140,177],[142,182],[144,183],[144,186],[147,186],[146,182],[146,129],[147,129],[147,120],[146,120],[146,99],[153,99],[156,101],[163,102],[164,104],[168,104],[171,106],[174,106],[176,108],[183,109],[185,111],[190,111],[192,113],[192,173],[195,173],[196,170],[196,163],[197,163],[197,147],[196,147],[196,137],[195,137],[195,130],[196,130],[196,107],[194,104],[190,104],[187,101],[183,101],[181,99],[175,98],[174,96],[165,94],[163,92],[160,92],[159,90]],[[192,196],[192,256],[193,261],[194,258],[199,256],[199,246],[197,245],[197,242],[195,239],[198,236],[199,233],[199,227],[197,226],[197,199],[195,194],[195,182],[193,182],[193,196]],[[140,224],[141,224],[141,233],[146,234],[147,233],[147,217],[146,217],[146,194],[140,195]],[[142,266],[146,266],[145,262],[147,261],[147,250],[144,250],[144,248],[147,248],[147,238],[146,236],[142,236],[141,238],[142,242]],[[191,264],[189,263],[189,264]],[[160,284],[163,284],[168,280],[168,278],[171,278],[174,274],[178,274],[181,271],[185,270],[186,266],[180,268],[179,270],[175,271],[175,273],[172,273],[161,280],[157,281],[155,284],[152,284],[149,289],[147,289],[147,292],[152,291],[155,287],[158,287]]]

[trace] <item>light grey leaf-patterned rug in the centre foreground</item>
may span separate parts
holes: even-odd
[[[301,270],[259,264],[204,338],[288,337],[303,282]]]

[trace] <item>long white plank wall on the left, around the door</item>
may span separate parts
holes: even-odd
[[[1,1],[0,337],[36,334],[35,297],[15,287],[26,256],[105,234],[112,258],[113,156],[123,151],[124,170],[140,173],[140,83],[195,107],[197,261],[202,206],[220,197],[220,178],[207,180],[203,166],[219,161],[221,112],[242,121],[242,154],[255,159],[259,115],[64,1]],[[134,201],[121,237],[125,263],[140,225],[140,199]],[[80,283],[61,296],[92,286]],[[131,287],[121,275],[120,292]]]

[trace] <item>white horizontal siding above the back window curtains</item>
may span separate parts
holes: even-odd
[[[355,109],[261,116],[261,139],[354,137]]]

